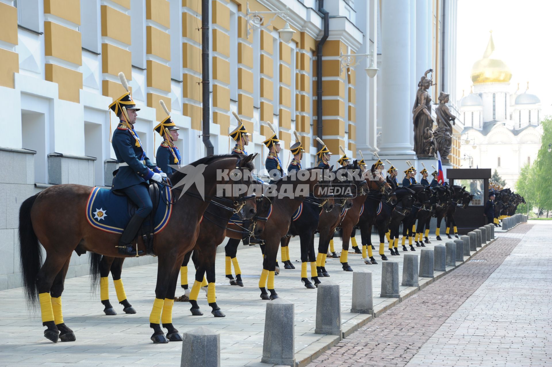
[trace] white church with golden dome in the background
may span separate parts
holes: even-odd
[[[525,164],[537,158],[544,118],[540,99],[529,91],[513,89],[512,72],[493,58],[492,33],[483,57],[471,68],[473,87],[458,105],[464,121],[461,134],[461,168],[495,168],[514,188]]]

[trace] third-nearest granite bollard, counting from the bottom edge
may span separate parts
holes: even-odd
[[[316,334],[337,335],[341,339],[341,300],[339,284],[325,281],[316,292]]]

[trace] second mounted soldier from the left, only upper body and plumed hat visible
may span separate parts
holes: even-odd
[[[167,114],[167,117],[164,118],[159,125],[153,128],[153,130],[157,131],[157,133],[164,139],[163,142],[161,142],[161,145],[157,148],[157,167],[159,167],[164,173],[170,175],[176,171],[176,169],[171,166],[180,167],[182,163],[180,151],[178,150],[178,147],[174,145],[174,142],[178,140],[178,130],[180,129],[176,126],[176,124],[174,124],[173,120],[171,120],[171,114],[169,114],[163,100],[160,100],[159,103]]]

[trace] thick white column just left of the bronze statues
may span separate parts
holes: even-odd
[[[410,6],[381,3],[381,155],[412,155],[410,130]]]

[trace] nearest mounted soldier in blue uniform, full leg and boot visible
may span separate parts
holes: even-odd
[[[128,83],[122,72],[119,73],[119,78],[127,92],[109,105],[109,108],[120,120],[112,138],[113,150],[119,163],[119,169],[113,178],[112,190],[123,192],[137,206],[137,209],[126,225],[117,247],[120,254],[136,256],[136,250],[132,247],[132,243],[142,222],[153,210],[148,193],[148,181],[161,182],[167,175],[151,163],[142,148],[140,137],[134,130],[136,111],[140,109],[136,107],[130,92],[128,92]]]

